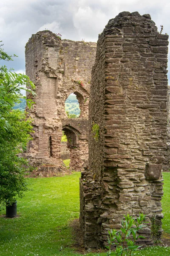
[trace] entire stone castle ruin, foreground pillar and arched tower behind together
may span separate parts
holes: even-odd
[[[161,235],[161,171],[163,164],[168,168],[167,39],[150,15],[122,12],[99,35],[97,52],[95,43],[60,40],[49,31],[26,44],[26,74],[37,93],[29,111],[35,133],[28,157],[42,173],[65,173],[63,130],[71,169],[83,170],[89,160],[80,179],[86,248],[106,245],[108,230],[119,229],[127,213],[147,216],[139,244],[153,244],[152,218]],[[79,119],[65,114],[71,93],[79,100]]]

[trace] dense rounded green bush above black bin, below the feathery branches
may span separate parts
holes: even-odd
[[[17,154],[26,149],[32,131],[31,120],[21,111],[10,111],[4,117],[9,126],[8,131],[0,129],[0,205],[11,204],[27,190],[24,173],[28,162]],[[1,127],[2,123],[0,119]]]

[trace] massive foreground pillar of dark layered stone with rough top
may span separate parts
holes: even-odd
[[[166,151],[168,36],[150,15],[122,12],[99,35],[89,103],[89,168],[80,180],[85,247],[107,244],[129,213],[152,217],[161,234],[162,163]]]

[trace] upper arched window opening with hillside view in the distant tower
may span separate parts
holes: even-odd
[[[65,112],[68,118],[78,118],[80,116],[83,104],[83,96],[74,92],[71,93],[65,101]]]

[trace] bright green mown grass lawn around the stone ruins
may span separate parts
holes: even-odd
[[[18,218],[0,218],[0,256],[80,256],[71,246],[69,222],[79,217],[79,172],[64,177],[28,178],[18,199]],[[170,233],[170,173],[164,173],[163,228]],[[97,256],[97,253],[87,253]],[[136,255],[170,256],[170,247],[144,248]],[[106,256],[106,253],[100,253]]]

